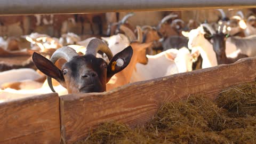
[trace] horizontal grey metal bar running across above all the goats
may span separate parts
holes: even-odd
[[[0,14],[252,8],[256,0],[1,0]]]

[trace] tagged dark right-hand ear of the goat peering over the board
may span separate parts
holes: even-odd
[[[116,73],[123,70],[129,65],[132,58],[132,54],[132,47],[128,46],[123,51],[114,55],[114,57],[110,60],[108,64],[107,82],[113,75],[115,75]]]

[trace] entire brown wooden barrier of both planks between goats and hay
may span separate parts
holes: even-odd
[[[102,122],[144,124],[164,102],[190,94],[215,98],[230,86],[255,81],[256,58],[231,65],[125,85],[104,93],[38,95],[0,103],[0,143],[73,143]]]

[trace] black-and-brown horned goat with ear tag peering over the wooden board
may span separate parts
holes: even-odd
[[[106,53],[110,60],[108,65],[103,59],[95,57],[99,50]],[[79,56],[70,47],[64,46],[55,51],[50,60],[34,53],[33,61],[36,67],[47,75],[47,81],[53,92],[55,91],[51,78],[56,79],[68,90],[68,93],[88,93],[106,91],[106,83],[114,74],[129,64],[131,57],[131,46],[113,57],[109,47],[100,39],[95,38],[90,41],[83,56]],[[54,65],[60,58],[67,61],[61,70]]]

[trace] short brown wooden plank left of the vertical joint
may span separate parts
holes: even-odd
[[[0,143],[60,143],[57,93],[0,103]]]

